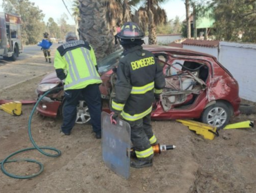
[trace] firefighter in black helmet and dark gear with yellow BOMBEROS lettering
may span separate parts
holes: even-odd
[[[152,166],[154,151],[152,144],[156,136],[150,124],[154,91],[158,95],[165,86],[162,68],[156,63],[154,54],[143,50],[145,37],[139,26],[127,22],[116,34],[116,40],[124,48],[124,57],[120,59],[115,85],[116,96],[111,101],[111,121],[120,114],[131,125],[131,142],[134,145],[136,159],[131,167]]]

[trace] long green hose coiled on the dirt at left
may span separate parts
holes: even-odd
[[[34,148],[26,148],[26,149],[23,149],[23,150],[19,150],[17,152],[14,152],[12,154],[10,154],[8,157],[6,157],[6,159],[3,159],[3,161],[0,162],[1,164],[1,170],[3,172],[3,174],[6,174],[7,176],[10,176],[12,178],[15,178],[15,179],[30,179],[30,178],[33,178],[35,176],[38,176],[39,174],[41,174],[44,170],[44,165],[42,165],[42,163],[36,161],[36,160],[33,160],[33,159],[12,159],[12,160],[8,160],[10,159],[12,156],[15,156],[16,154],[19,154],[21,152],[26,152],[28,150],[38,150],[39,152],[41,152],[42,154],[46,155],[46,156],[51,156],[51,157],[57,157],[57,156],[60,156],[62,154],[62,152],[60,150],[57,150],[56,148],[51,148],[51,147],[39,147],[35,141],[33,140],[33,137],[32,137],[32,134],[31,134],[31,120],[32,120],[32,117],[33,117],[33,114],[37,108],[37,105],[39,104],[39,102],[44,98],[44,96],[46,96],[47,94],[49,94],[50,92],[53,92],[54,90],[62,90],[63,88],[53,88],[51,90],[48,90],[46,93],[44,93],[42,96],[40,96],[40,98],[38,99],[37,103],[35,103],[35,106],[32,110],[32,112],[30,113],[30,116],[29,116],[29,119],[28,119],[28,136],[29,136],[29,139],[31,141],[31,143],[34,145]],[[55,152],[57,152],[57,154],[48,154],[46,152],[44,152],[43,150],[53,150]],[[32,162],[32,163],[37,163],[40,167],[39,169],[39,172],[33,174],[33,175],[29,175],[29,176],[17,176],[15,174],[11,174],[9,172],[6,171],[6,168],[4,168],[4,164],[5,163],[10,163],[10,162],[17,162],[17,161],[26,161],[26,162]]]

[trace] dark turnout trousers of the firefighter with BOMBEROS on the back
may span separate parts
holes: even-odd
[[[127,121],[127,120],[126,120]],[[134,145],[134,150],[142,152],[151,147],[149,139],[154,135],[152,131],[151,114],[144,116],[143,119],[138,119],[136,121],[127,121],[131,126],[131,142]],[[154,156],[148,156],[144,159],[152,159]]]

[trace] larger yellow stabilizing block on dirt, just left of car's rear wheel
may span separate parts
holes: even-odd
[[[196,132],[196,134],[201,134],[205,139],[214,139],[214,136],[219,136],[217,132],[217,128],[213,127],[212,125],[208,125],[205,123],[200,123],[197,121],[190,121],[190,120],[181,120],[177,119],[176,121],[183,123],[183,125],[188,126],[190,130]]]

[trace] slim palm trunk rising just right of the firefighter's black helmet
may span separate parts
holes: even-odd
[[[154,22],[154,14],[152,12],[152,0],[147,1],[147,14],[149,18],[149,45],[156,44],[156,24]]]

